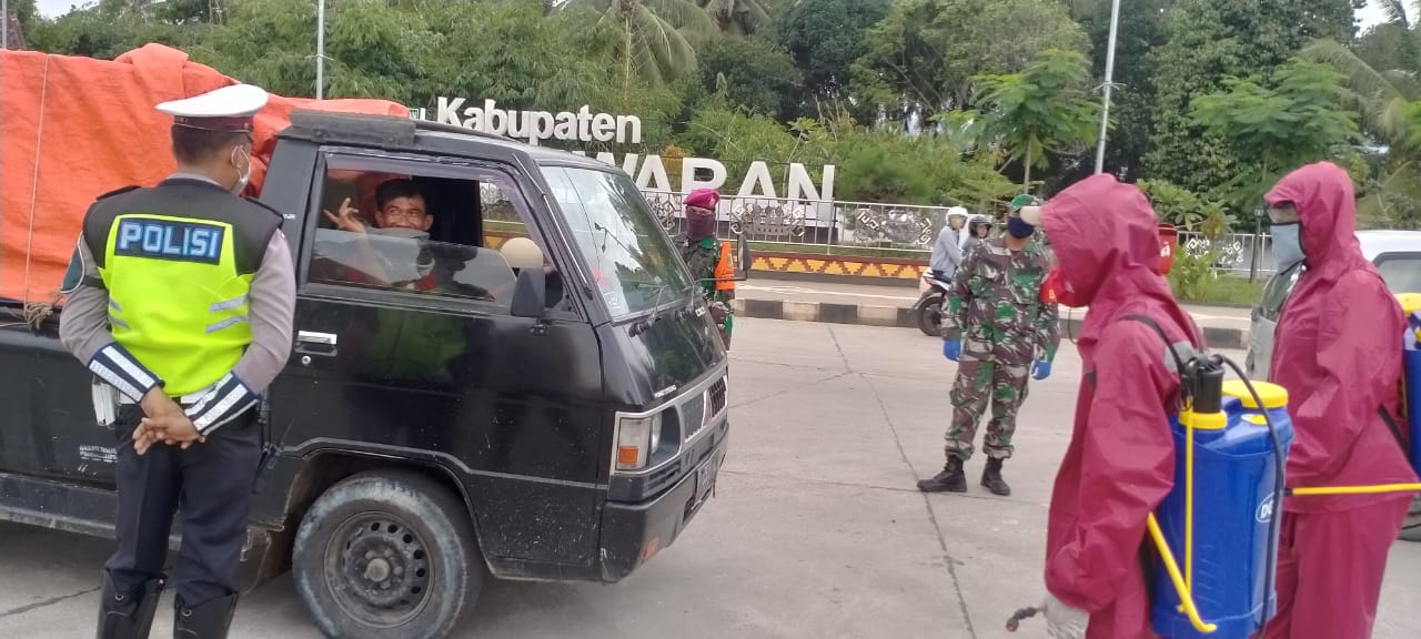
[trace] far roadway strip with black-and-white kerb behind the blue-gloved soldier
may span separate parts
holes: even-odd
[[[830,324],[917,328],[917,288],[888,284],[841,284],[753,277],[736,284],[739,317]],[[1215,348],[1246,348],[1249,310],[1189,305],[1205,341]],[[1080,331],[1084,308],[1061,308],[1061,328]]]

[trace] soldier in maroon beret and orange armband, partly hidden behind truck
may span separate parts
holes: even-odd
[[[701,280],[701,290],[710,308],[710,321],[720,331],[720,341],[730,349],[730,328],[735,312],[735,266],[728,243],[716,241],[715,210],[720,204],[720,193],[715,189],[696,189],[686,195],[686,233],[676,237],[681,258],[691,268],[691,277]]]

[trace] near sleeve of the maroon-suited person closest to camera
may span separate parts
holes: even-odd
[[[1145,518],[1174,486],[1174,439],[1165,398],[1178,378],[1165,368],[1160,335],[1121,322],[1096,349],[1096,383],[1084,427],[1079,511],[1066,542],[1046,558],[1046,588],[1100,612],[1115,601],[1137,562]]]

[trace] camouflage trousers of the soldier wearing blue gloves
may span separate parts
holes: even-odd
[[[1003,356],[1006,355],[1006,356]],[[1030,355],[1020,364],[1017,354],[973,354],[963,348],[958,361],[958,379],[952,383],[952,426],[946,433],[946,454],[963,462],[972,457],[972,442],[978,423],[992,403],[992,420],[982,437],[982,452],[988,457],[1012,457],[1012,435],[1016,433],[1016,410],[1026,400],[1026,381],[1032,369]]]

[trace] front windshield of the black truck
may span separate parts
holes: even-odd
[[[685,300],[691,274],[631,179],[571,166],[544,166],[543,176],[612,320]]]

